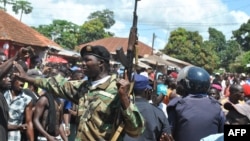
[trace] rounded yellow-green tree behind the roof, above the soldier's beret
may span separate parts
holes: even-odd
[[[86,21],[80,27],[80,35],[78,44],[84,44],[94,40],[110,37],[108,32],[104,30],[104,24],[98,18]]]

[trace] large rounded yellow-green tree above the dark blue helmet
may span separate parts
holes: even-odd
[[[174,58],[204,67],[209,72],[216,67],[217,58],[211,43],[203,43],[198,32],[190,32],[184,28],[172,31],[162,51]]]

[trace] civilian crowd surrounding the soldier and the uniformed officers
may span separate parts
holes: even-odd
[[[29,76],[48,78],[61,74],[71,81],[87,80],[84,75],[82,65],[65,64],[65,63],[46,63],[42,64],[37,59],[32,59],[30,64],[25,61],[18,61]],[[0,53],[0,64],[7,61],[4,53]],[[117,78],[121,78],[120,70],[111,68],[111,73],[116,74]],[[75,140],[79,117],[77,116],[78,105],[67,98],[58,98],[51,96],[49,91],[38,88],[32,83],[22,83],[14,79],[13,74],[17,73],[15,68],[10,69],[8,73],[1,79],[0,90],[4,95],[9,106],[8,114],[8,140],[23,140],[35,137],[43,140],[42,136],[53,134],[58,136],[58,139]],[[151,86],[151,93],[147,95],[148,103],[161,109],[166,119],[171,119],[168,113],[168,105],[176,97],[185,97],[182,89],[178,88],[177,71],[160,72],[152,68],[137,68],[136,74],[147,78]],[[140,78],[141,79],[141,78]],[[135,83],[137,83],[135,81]],[[138,82],[139,83],[139,82]],[[18,93],[24,92],[25,95]],[[13,94],[17,97],[12,99]],[[221,107],[225,115],[225,124],[249,124],[250,123],[250,78],[245,73],[224,73],[210,75],[210,86],[207,91],[208,97],[215,99]],[[44,102],[45,101],[45,102]],[[49,103],[46,105],[46,103]],[[239,105],[244,106],[239,106]],[[47,108],[47,113],[41,112]],[[248,109],[249,108],[249,109]],[[206,110],[206,109],[204,109]],[[30,113],[33,113],[30,115]],[[55,118],[55,114],[60,114],[60,118]],[[48,118],[46,118],[48,117]],[[202,120],[202,119],[200,119]],[[32,122],[32,123],[30,123]],[[172,126],[169,122],[167,126]],[[53,125],[57,125],[55,129]],[[35,134],[29,134],[29,126],[33,126]],[[43,127],[46,129],[42,129]],[[53,127],[53,128],[52,128]],[[177,130],[177,129],[176,129]],[[19,132],[19,133],[17,133]],[[48,133],[45,133],[48,132]],[[171,131],[168,131],[171,134]],[[181,141],[177,134],[172,133],[176,140]],[[205,136],[204,136],[205,137]],[[45,139],[46,140],[46,139]]]

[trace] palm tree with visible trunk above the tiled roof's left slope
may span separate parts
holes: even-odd
[[[20,15],[20,21],[22,21],[22,16],[24,14],[29,14],[32,12],[33,7],[31,6],[31,3],[26,1],[26,0],[17,0],[13,6],[12,10],[16,13],[19,14],[19,11],[21,10],[21,15]]]

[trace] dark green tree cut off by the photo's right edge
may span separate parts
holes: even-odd
[[[233,31],[233,39],[235,39],[243,51],[250,50],[250,19],[247,23],[243,23],[239,29]]]

